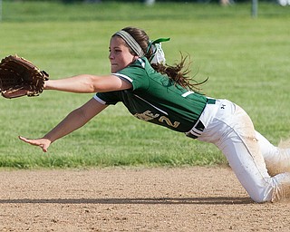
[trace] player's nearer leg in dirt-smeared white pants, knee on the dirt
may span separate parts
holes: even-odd
[[[256,202],[289,198],[290,172],[278,174],[273,178],[268,175],[252,121],[238,106],[234,115],[234,121],[225,121],[228,133],[217,145],[227,156],[237,179]]]

